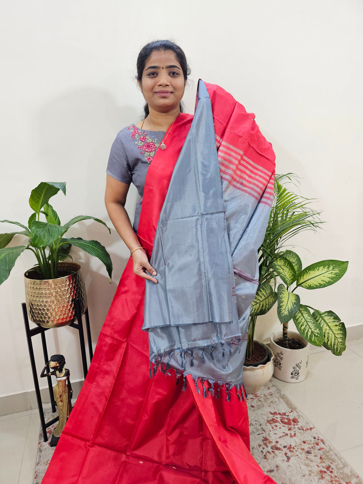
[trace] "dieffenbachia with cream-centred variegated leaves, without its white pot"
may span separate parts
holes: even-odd
[[[348,261],[321,260],[302,270],[300,257],[295,252],[286,250],[278,254],[272,266],[283,284],[278,285],[277,293],[276,281],[273,289],[269,282],[261,284],[251,306],[251,315],[266,314],[277,301],[277,316],[283,324],[285,348],[288,348],[288,322],[292,319],[306,341],[314,346],[323,346],[334,355],[341,355],[346,349],[347,331],[339,316],[333,311],[320,311],[301,304],[300,296],[294,291],[299,287],[320,289],[331,286],[346,273]],[[293,283],[296,285],[291,290]]]

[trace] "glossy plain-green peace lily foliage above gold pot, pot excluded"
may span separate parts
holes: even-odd
[[[69,252],[72,245],[83,249],[92,256],[98,257],[105,264],[111,281],[111,257],[100,242],[85,241],[80,237],[77,237],[76,239],[64,238],[67,230],[81,220],[93,219],[107,227],[105,222],[89,215],[78,215],[66,224],[61,225],[57,212],[55,212],[48,202],[51,197],[59,192],[59,190],[65,195],[65,185],[65,182],[42,181],[31,191],[29,205],[34,212],[29,217],[28,227],[19,222],[0,220],[0,222],[15,224],[24,229],[19,232],[0,234],[0,284],[9,277],[16,259],[26,249],[30,250],[35,255],[38,266],[34,269],[41,273],[43,279],[57,278],[58,262],[65,260],[67,257],[71,257]],[[45,222],[40,220],[40,214],[45,216]],[[107,227],[107,229],[109,233],[111,233],[109,227]],[[21,234],[28,237],[28,244],[7,247],[15,234]]]

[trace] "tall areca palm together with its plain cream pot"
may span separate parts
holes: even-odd
[[[294,235],[304,230],[316,230],[323,223],[318,218],[321,212],[309,207],[314,199],[305,198],[288,191],[281,182],[297,178],[293,173],[275,175],[272,209],[259,256],[259,281],[256,297],[249,318],[246,358],[244,362],[244,384],[247,393],[256,393],[272,377],[273,353],[264,343],[254,340],[257,317],[266,314],[277,301],[274,261],[282,248]],[[274,281],[272,290],[270,285]]]

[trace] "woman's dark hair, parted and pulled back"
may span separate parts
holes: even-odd
[[[178,59],[181,65],[184,79],[187,80],[188,76],[190,75],[190,68],[186,61],[185,54],[181,49],[181,47],[179,47],[179,45],[175,44],[171,40],[154,40],[142,47],[142,49],[140,50],[137,56],[137,61],[136,61],[136,69],[137,69],[136,79],[141,81],[142,73],[145,69],[146,61],[149,59],[149,57],[151,56],[154,50],[172,50],[175,54],[175,57]],[[181,113],[184,112],[184,105],[182,102],[179,103],[179,109]],[[144,111],[145,111],[145,118],[146,118],[149,114],[148,103],[145,103]]]

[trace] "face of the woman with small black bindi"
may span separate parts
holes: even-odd
[[[186,81],[172,50],[154,50],[137,82],[149,109],[165,113],[179,106]]]

